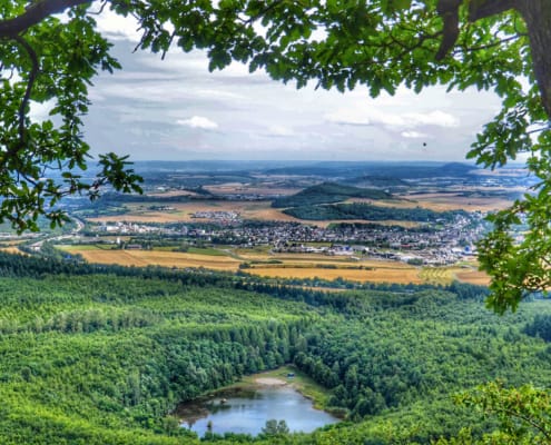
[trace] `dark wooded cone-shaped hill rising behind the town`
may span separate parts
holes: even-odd
[[[272,202],[272,207],[282,208],[333,204],[344,201],[348,198],[392,199],[393,196],[378,189],[344,186],[337,182],[322,182],[305,188],[295,195],[275,199]]]

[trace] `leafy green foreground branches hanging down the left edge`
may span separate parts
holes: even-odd
[[[67,20],[53,16],[69,7]],[[41,216],[61,225],[67,215],[58,204],[66,196],[96,199],[106,185],[141,191],[128,157],[115,154],[100,156],[97,175],[83,178],[88,87],[99,70],[120,68],[88,8],[83,0],[46,0],[0,9],[0,221],[18,231],[38,230]],[[49,117],[33,118],[35,103],[47,105]]]

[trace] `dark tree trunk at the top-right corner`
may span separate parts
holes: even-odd
[[[527,22],[535,80],[551,120],[551,1],[519,0],[516,9]]]

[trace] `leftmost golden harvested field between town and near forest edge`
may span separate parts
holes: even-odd
[[[63,246],[58,246],[63,248]],[[80,254],[89,263],[118,264],[121,266],[164,266],[164,267],[205,267],[214,270],[236,271],[239,261],[230,257],[186,254],[161,250],[100,250],[100,249],[66,249]]]

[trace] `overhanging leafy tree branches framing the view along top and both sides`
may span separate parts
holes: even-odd
[[[548,0],[9,0],[0,6],[0,218],[36,229],[46,215],[63,219],[65,195],[98,196],[111,184],[139,191],[125,157],[100,157],[91,182],[82,116],[88,88],[101,70],[120,66],[95,17],[106,8],[139,22],[137,49],[203,49],[209,69],[233,61],[274,79],[371,96],[444,85],[495,91],[502,108],[469,154],[495,168],[519,154],[540,182],[511,209],[493,217],[480,244],[482,268],[493,278],[491,305],[515,308],[527,290],[549,287],[551,228],[551,4]],[[58,13],[65,12],[63,16]],[[50,118],[36,120],[33,102]],[[522,240],[511,230],[520,221]]]

